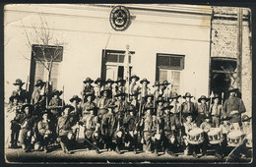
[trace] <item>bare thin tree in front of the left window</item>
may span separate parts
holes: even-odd
[[[28,46],[32,48],[32,60],[37,61],[46,69],[47,79],[44,92],[49,93],[53,62],[61,56],[64,43],[60,42],[57,37],[54,36],[53,29],[49,28],[47,21],[41,16],[39,16],[39,18],[39,26],[36,27],[33,24],[30,32],[28,32],[25,26],[23,27],[28,40]],[[49,46],[52,45],[54,47],[50,49]]]

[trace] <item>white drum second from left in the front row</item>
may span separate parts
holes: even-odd
[[[207,135],[211,144],[221,143],[224,140],[223,130],[221,128],[213,128]]]

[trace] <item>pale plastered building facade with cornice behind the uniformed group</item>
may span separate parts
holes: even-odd
[[[34,28],[40,28],[42,18],[55,38],[63,43],[61,56],[53,63],[51,80],[53,88],[65,86],[66,101],[74,94],[80,94],[87,77],[93,80],[98,77],[104,80],[125,78],[127,45],[130,74],[147,78],[150,86],[155,81],[167,80],[180,94],[189,91],[198,98],[211,93],[214,89],[211,79],[213,57],[221,56],[220,47],[228,45],[216,44],[222,40],[220,37],[213,37],[211,42],[216,31],[221,33],[219,28],[222,27],[218,20],[214,20],[214,8],[174,4],[124,5],[129,10],[131,23],[125,30],[115,30],[109,22],[114,6],[7,5],[5,101],[8,102],[14,88],[12,83],[17,78],[28,81],[30,91],[36,80],[46,80],[43,65],[32,60],[32,47],[36,50],[41,43],[33,42],[28,46],[28,35],[35,36]],[[244,33],[248,37],[247,32]],[[56,47],[48,43],[49,50]],[[251,102],[251,96],[248,101]]]

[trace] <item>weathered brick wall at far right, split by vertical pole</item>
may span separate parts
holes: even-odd
[[[238,8],[214,7],[212,22],[212,57],[231,57],[237,55],[237,13]],[[252,53],[251,28],[249,9],[243,9],[242,31],[242,99],[245,103],[246,114],[252,111]]]

